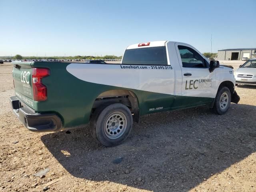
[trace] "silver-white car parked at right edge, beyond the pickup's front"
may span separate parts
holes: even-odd
[[[256,85],[256,58],[250,59],[243,65],[240,65],[234,75],[236,78],[236,85]]]

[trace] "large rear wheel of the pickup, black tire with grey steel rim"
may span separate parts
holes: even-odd
[[[110,134],[110,132],[112,131],[111,129],[107,128],[109,121],[106,122],[107,119],[111,118],[111,115],[113,115],[114,117],[116,113],[117,113],[117,116],[115,120],[118,121],[118,118],[122,119],[122,121],[117,122],[114,125],[114,126],[118,126],[119,132],[120,131],[122,132],[122,133],[117,132],[118,128],[114,129],[116,130],[115,132],[117,136],[118,134],[120,134],[120,137],[118,138],[114,138],[115,137],[114,130],[113,130],[113,133]],[[120,116],[123,116],[123,118],[120,118],[120,116],[118,117],[118,114],[120,114]],[[126,126],[121,126],[120,123],[122,122]],[[110,124],[110,126],[112,126],[112,124]],[[132,131],[132,114],[127,106],[120,103],[101,106],[100,108],[96,109],[96,111],[92,116],[92,119],[90,121],[90,129],[91,129],[92,136],[96,138],[102,145],[107,147],[119,145],[122,142],[124,142],[124,140],[126,140],[128,135]]]

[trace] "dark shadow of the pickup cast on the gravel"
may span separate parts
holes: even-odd
[[[96,143],[88,127],[41,140],[77,178],[186,191],[256,151],[255,112],[256,106],[231,104],[222,116],[205,107],[142,116],[126,142],[112,148]]]

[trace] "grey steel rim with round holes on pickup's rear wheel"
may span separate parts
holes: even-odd
[[[110,139],[120,138],[127,128],[127,118],[118,111],[110,114],[104,123],[104,133]]]

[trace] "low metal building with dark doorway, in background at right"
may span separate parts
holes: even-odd
[[[241,60],[243,57],[256,58],[256,48],[218,50],[218,60]]]

